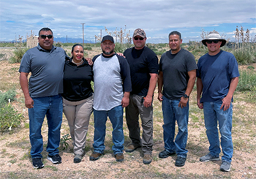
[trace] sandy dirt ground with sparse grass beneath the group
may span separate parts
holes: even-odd
[[[68,49],[69,50],[69,49]],[[0,49],[0,53],[7,53],[11,56],[11,50]],[[100,50],[97,49],[97,53]],[[95,54],[89,52],[89,57]],[[256,178],[256,132],[255,132],[255,103],[244,102],[243,94],[236,94],[237,100],[233,107],[233,142],[234,153],[232,168],[230,172],[221,172],[219,167],[221,161],[203,163],[199,161],[200,156],[208,153],[208,140],[206,129],[203,124],[203,112],[198,110],[195,97],[195,90],[190,99],[189,112],[189,137],[187,142],[188,156],[184,167],[175,167],[176,156],[167,159],[159,159],[158,154],[164,148],[162,141],[162,110],[157,100],[157,90],[154,96],[154,147],[153,161],[151,164],[143,164],[141,150],[133,153],[124,152],[124,161],[116,162],[111,150],[112,127],[107,122],[107,133],[105,137],[105,153],[97,161],[89,161],[93,148],[94,122],[91,115],[89,133],[86,138],[85,156],[79,164],[73,163],[72,142],[68,141],[69,148],[60,150],[62,164],[52,164],[46,158],[45,151],[48,140],[48,127],[45,122],[42,127],[44,140],[43,163],[45,167],[35,170],[31,164],[29,129],[27,124],[29,118],[23,104],[23,94],[18,84],[18,67],[20,64],[9,64],[7,61],[0,61],[0,86],[13,85],[17,91],[17,100],[12,105],[23,113],[25,118],[19,129],[12,132],[0,134],[0,178]],[[256,65],[254,64],[255,69]],[[236,96],[235,96],[236,98]],[[241,122],[239,121],[241,119]],[[249,126],[243,123],[252,121]],[[239,124],[239,125],[238,125]],[[63,118],[61,136],[69,134],[67,119]],[[124,145],[130,142],[127,124],[124,118]],[[61,149],[61,148],[60,148]]]

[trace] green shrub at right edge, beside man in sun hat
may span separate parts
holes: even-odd
[[[240,72],[239,82],[236,91],[254,91],[256,86],[256,74],[253,71]]]

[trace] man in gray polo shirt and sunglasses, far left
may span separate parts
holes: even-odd
[[[34,168],[44,167],[42,163],[42,123],[48,119],[48,160],[60,164],[60,129],[62,122],[63,69],[67,54],[61,47],[53,46],[53,31],[42,28],[39,31],[39,45],[29,49],[20,63],[20,86],[29,108],[29,138]],[[28,75],[31,72],[31,77]]]

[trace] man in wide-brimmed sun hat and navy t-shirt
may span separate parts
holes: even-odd
[[[232,102],[238,85],[238,63],[232,53],[220,50],[226,40],[217,31],[211,31],[202,43],[208,47],[208,53],[197,63],[197,106],[203,109],[210,147],[200,161],[219,161],[219,122],[223,153],[220,170],[228,172],[233,156]]]

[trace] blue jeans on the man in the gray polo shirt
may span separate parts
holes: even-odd
[[[48,145],[46,151],[49,156],[59,153],[59,142],[62,122],[61,95],[32,98],[34,107],[29,109],[29,138],[31,143],[31,157],[42,158],[42,123],[45,115],[48,121]]]

